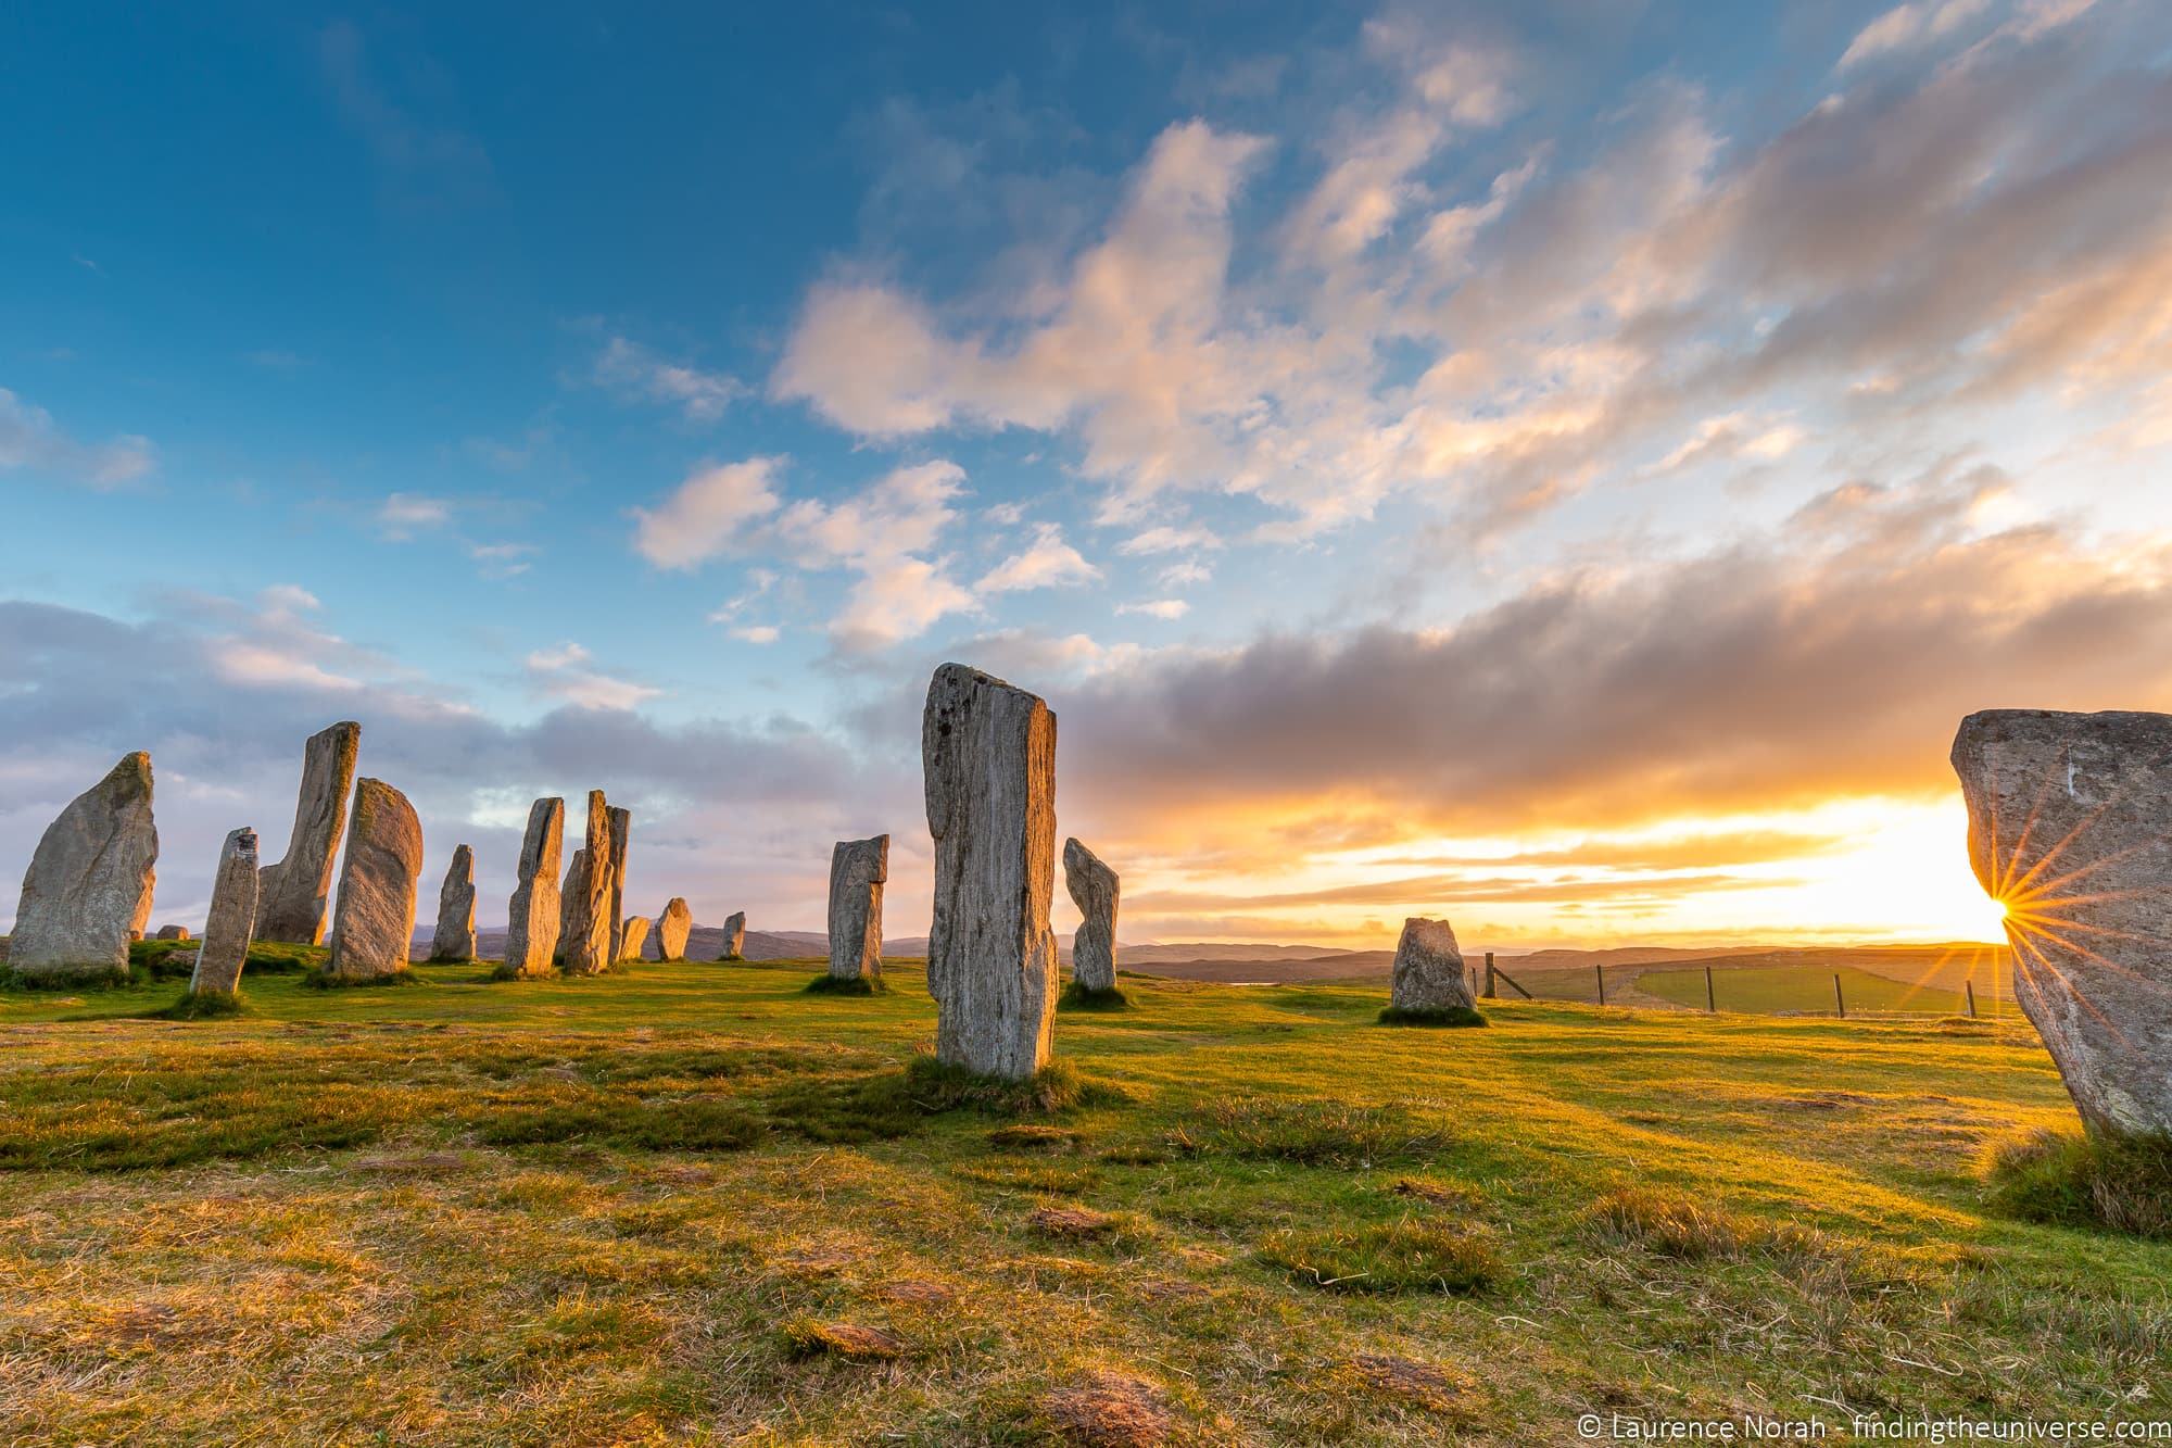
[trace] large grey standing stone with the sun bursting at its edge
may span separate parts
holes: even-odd
[[[1953,770],[2013,994],[2081,1120],[2172,1133],[2172,715],[1972,713]]]

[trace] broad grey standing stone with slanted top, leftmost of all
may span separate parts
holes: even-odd
[[[128,978],[159,859],[150,754],[113,765],[46,826],[22,876],[9,965],[26,976]]]

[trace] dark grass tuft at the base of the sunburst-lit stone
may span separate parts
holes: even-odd
[[[2172,1137],[2037,1131],[1992,1152],[1992,1204],[2024,1222],[2172,1239]]]

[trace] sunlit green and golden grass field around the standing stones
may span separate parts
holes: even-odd
[[[993,1115],[912,1068],[914,968],[815,970],[0,991],[0,1441],[2172,1418],[2172,1246],[1985,1209],[1994,1144],[2072,1124],[2011,1022],[1127,978],[1056,1109]]]

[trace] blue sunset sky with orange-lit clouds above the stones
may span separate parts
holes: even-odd
[[[0,135],[0,876],[146,748],[161,922],[352,717],[424,918],[602,787],[917,935],[958,659],[1123,939],[1998,939],[1961,715],[2172,709],[2155,0],[17,4]]]

